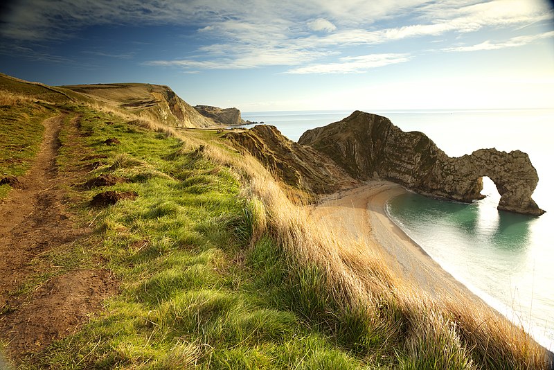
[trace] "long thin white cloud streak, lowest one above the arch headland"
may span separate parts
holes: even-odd
[[[410,60],[407,54],[370,54],[340,58],[339,62],[311,64],[306,67],[289,69],[290,74],[307,73],[361,73],[368,69],[384,67],[388,64],[404,63]]]

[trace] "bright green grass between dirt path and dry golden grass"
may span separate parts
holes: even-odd
[[[73,174],[73,185],[67,184],[73,211],[96,231],[83,245],[46,257],[59,273],[95,263],[108,268],[120,281],[120,294],[78,333],[30,355],[21,367],[364,367],[363,357],[337,347],[336,331],[283,304],[287,291],[296,289],[290,266],[269,236],[250,245],[255,205],[240,196],[230,168],[115,116],[64,109],[80,120],[73,126],[66,121],[57,161],[62,173]],[[109,138],[120,145],[102,143]],[[75,177],[94,161],[100,161],[95,170]],[[91,197],[107,188],[79,184],[102,173],[127,179],[110,190],[139,197],[91,209]]]

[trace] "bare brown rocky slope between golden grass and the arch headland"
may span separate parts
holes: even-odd
[[[325,155],[287,139],[276,127],[257,125],[224,136],[246,150],[286,184],[312,193],[333,193],[357,181]]]

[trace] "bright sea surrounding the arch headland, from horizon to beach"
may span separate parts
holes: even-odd
[[[402,130],[425,132],[450,157],[480,148],[522,150],[539,175],[540,217],[498,211],[500,195],[483,178],[485,199],[447,202],[416,193],[389,200],[388,216],[425,252],[508,319],[554,351],[554,109],[389,110]],[[247,112],[293,141],[352,112]],[[249,127],[249,126],[247,126]]]

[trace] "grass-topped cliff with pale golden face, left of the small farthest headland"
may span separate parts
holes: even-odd
[[[64,86],[84,96],[128,109],[173,127],[210,127],[211,118],[202,116],[167,86],[139,83]]]

